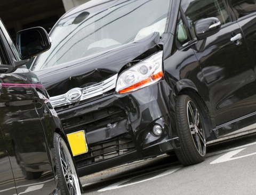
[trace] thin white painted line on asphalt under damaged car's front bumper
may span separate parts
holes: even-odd
[[[159,175],[156,175],[154,177],[150,177],[149,179],[146,179],[146,180],[141,180],[141,181],[138,181],[138,182],[134,182],[134,183],[129,183],[129,184],[124,184],[122,185],[123,183],[126,183],[128,181],[131,181],[137,177],[132,177],[130,179],[127,179],[127,180],[123,180],[121,182],[117,182],[117,183],[114,183],[112,185],[109,185],[107,186],[106,188],[102,188],[101,190],[98,190],[98,192],[104,192],[104,191],[107,191],[107,190],[114,190],[114,189],[118,189],[118,188],[123,188],[123,187],[126,187],[126,186],[129,186],[129,185],[134,185],[134,184],[138,184],[138,183],[141,183],[141,182],[146,182],[146,181],[149,181],[149,180],[154,180],[156,178],[159,178],[159,177],[162,177],[162,176],[165,176],[165,175],[169,175],[171,173],[174,173],[175,171],[178,171],[180,168],[182,168],[183,166],[175,166],[175,167],[172,167],[170,168],[169,170],[159,174]],[[146,174],[144,174],[146,175]],[[142,175],[139,175],[139,176],[142,176]]]

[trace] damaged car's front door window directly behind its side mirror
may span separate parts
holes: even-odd
[[[182,9],[188,20],[193,38],[195,38],[195,23],[198,20],[215,17],[220,20],[221,24],[231,21],[224,0],[189,0],[189,2]]]

